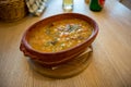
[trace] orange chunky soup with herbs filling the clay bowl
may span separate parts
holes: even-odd
[[[57,52],[74,47],[92,34],[93,27],[85,21],[70,18],[52,22],[31,30],[28,44],[39,52]]]

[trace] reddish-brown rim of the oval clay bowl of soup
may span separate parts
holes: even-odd
[[[40,52],[40,51],[37,51],[37,50],[35,50],[34,48],[32,48],[32,46],[27,42],[27,40],[26,40],[26,35],[27,35],[27,33],[29,32],[29,29],[32,29],[32,28],[33,28],[35,25],[37,25],[38,23],[41,23],[43,21],[48,20],[48,18],[51,18],[51,17],[53,17],[53,16],[71,15],[71,14],[87,17],[88,20],[91,20],[91,21],[93,22],[93,25],[94,25],[93,33],[92,33],[92,35],[91,35],[88,38],[86,38],[83,42],[78,44],[78,45],[75,45],[75,46],[73,46],[73,47],[71,47],[71,48],[66,49],[66,50],[60,50],[60,51],[56,51],[56,52]],[[29,50],[29,51],[32,51],[32,52],[35,52],[35,53],[39,53],[39,54],[59,54],[59,53],[63,53],[63,52],[73,50],[73,49],[82,46],[82,45],[85,44],[86,41],[91,41],[92,38],[94,38],[94,37],[97,36],[97,34],[98,34],[98,25],[97,25],[97,23],[96,23],[93,18],[91,18],[90,16],[87,16],[87,15],[85,15],[85,14],[81,14],[81,13],[60,13],[60,14],[55,14],[55,15],[45,17],[45,18],[43,18],[43,20],[40,20],[40,21],[32,24],[32,25],[25,30],[25,33],[23,34],[22,42],[24,44],[24,46],[26,47],[27,50]]]

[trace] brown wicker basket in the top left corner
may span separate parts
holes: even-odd
[[[0,0],[0,20],[14,22],[27,13],[24,0]]]

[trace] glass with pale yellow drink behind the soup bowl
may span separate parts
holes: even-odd
[[[62,0],[63,10],[72,10],[73,9],[73,0]]]

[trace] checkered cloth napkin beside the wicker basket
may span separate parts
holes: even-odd
[[[25,0],[28,12],[34,15],[41,15],[46,8],[47,0]]]

